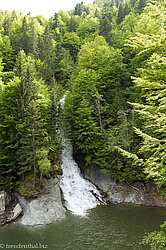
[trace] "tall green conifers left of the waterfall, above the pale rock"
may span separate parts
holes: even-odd
[[[37,78],[34,60],[23,51],[14,72],[17,77],[1,86],[0,169],[5,188],[11,186],[11,178],[18,180],[32,173],[35,186],[37,175],[46,175],[51,169],[48,89]]]

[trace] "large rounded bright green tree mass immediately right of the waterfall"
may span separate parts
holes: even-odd
[[[115,145],[112,145],[111,138],[109,137],[110,140],[107,138],[112,129],[115,130],[114,126],[118,122],[121,125],[119,124],[119,138],[114,138],[116,146],[118,140],[121,144],[129,142],[129,138],[127,140],[125,138],[128,131],[121,136],[126,130],[127,121],[124,121],[123,132],[120,133],[121,118],[117,120],[116,117],[118,112],[120,116],[120,109],[123,106],[120,88],[124,88],[126,76],[121,51],[109,48],[105,39],[98,36],[93,42],[85,43],[78,54],[71,90],[65,103],[65,114],[70,124],[70,136],[75,150],[79,152],[87,166],[95,164],[110,169],[114,177],[119,180],[127,178],[127,173],[131,170],[123,171],[124,161]],[[116,94],[117,91],[119,95]],[[131,180],[137,178],[136,171],[133,176]]]

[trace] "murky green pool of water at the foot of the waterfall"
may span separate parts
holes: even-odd
[[[0,248],[13,244],[24,249],[21,247],[24,244],[26,249],[32,249],[36,244],[33,249],[149,249],[141,246],[140,241],[146,232],[158,230],[163,220],[166,210],[160,208],[100,205],[86,217],[67,213],[65,219],[47,226],[25,227],[15,223],[1,227]]]

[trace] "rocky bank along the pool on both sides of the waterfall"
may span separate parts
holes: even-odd
[[[88,179],[100,190],[107,204],[166,208],[166,198],[161,197],[161,190],[157,190],[152,183],[136,182],[132,185],[118,183],[112,179],[109,173],[103,173],[101,169],[95,167],[82,170],[82,174],[85,179]],[[20,219],[20,223],[23,225],[46,225],[65,218],[66,209],[59,184],[57,178],[45,180],[45,190],[35,199],[25,199],[16,193],[7,195],[5,205],[4,200],[2,200],[1,224],[9,223],[15,219],[9,220],[17,204],[20,204],[22,208],[22,210],[19,209],[17,217],[24,214]]]

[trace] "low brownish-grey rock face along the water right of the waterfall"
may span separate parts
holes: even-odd
[[[107,194],[110,203],[166,207],[166,198],[161,198],[161,192],[151,183],[117,183],[110,174],[95,167],[84,169],[83,175]]]

